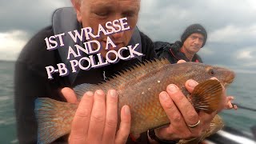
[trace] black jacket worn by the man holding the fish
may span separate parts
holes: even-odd
[[[110,77],[126,66],[139,62],[137,58],[133,58],[97,69],[80,70],[74,82],[70,82],[67,76],[60,77],[58,75],[53,75],[54,79],[49,80],[45,67],[56,66],[62,62],[58,50],[46,50],[44,39],[52,35],[54,35],[52,26],[38,32],[23,48],[15,64],[14,105],[19,143],[37,143],[37,122],[34,115],[34,100],[36,98],[48,97],[65,102],[65,98],[60,94],[63,87],[74,87],[82,83],[99,83],[103,81],[103,71],[105,71],[106,77]],[[141,32],[140,36],[142,54],[145,54],[142,61],[156,58],[154,43]],[[141,140],[146,142],[146,138],[146,134],[144,134]],[[62,138],[58,139],[58,141],[62,140]]]

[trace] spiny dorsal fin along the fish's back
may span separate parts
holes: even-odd
[[[142,76],[169,64],[170,62],[166,58],[139,62],[134,66],[126,68],[126,70],[122,70],[119,74],[115,75],[115,78],[107,80],[106,87],[122,86],[122,84],[130,82],[131,79],[142,78]]]

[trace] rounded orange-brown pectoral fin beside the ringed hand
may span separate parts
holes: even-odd
[[[218,80],[206,80],[194,88],[190,98],[196,110],[210,114],[218,109],[222,101],[222,85]]]

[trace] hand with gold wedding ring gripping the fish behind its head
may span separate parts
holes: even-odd
[[[198,82],[189,80],[186,82],[186,89],[192,93],[194,87],[198,85]],[[216,115],[216,112],[212,114],[206,114],[204,112],[197,113],[194,107],[188,101],[178,86],[170,84],[167,86],[166,91],[159,94],[160,102],[163,109],[166,111],[168,118],[170,119],[170,126],[156,129],[155,133],[158,138],[165,140],[177,140],[196,138],[202,134],[203,130],[206,130],[210,126],[210,122]],[[200,123],[198,126],[194,124]],[[190,126],[188,126],[190,125]]]

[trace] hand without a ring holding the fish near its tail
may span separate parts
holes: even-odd
[[[74,90],[63,88],[67,102],[78,103]],[[126,143],[130,134],[130,108],[123,106],[118,125],[118,95],[116,90],[86,92],[79,102],[72,122],[70,143]]]

